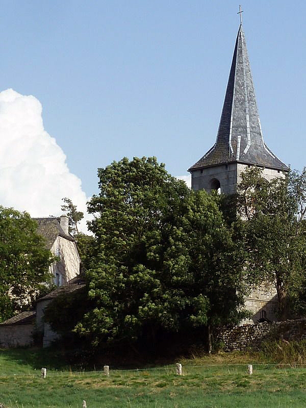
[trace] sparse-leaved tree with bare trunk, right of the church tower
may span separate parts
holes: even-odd
[[[279,312],[285,319],[290,291],[301,286],[305,273],[304,209],[300,199],[306,190],[298,183],[296,172],[267,181],[259,168],[249,168],[241,177],[238,212],[242,220],[237,223],[249,253],[249,277],[257,284],[275,285]]]

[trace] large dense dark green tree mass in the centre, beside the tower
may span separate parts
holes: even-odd
[[[154,343],[176,332],[239,319],[242,263],[214,195],[194,193],[155,158],[98,169],[93,262],[95,307],[78,333],[103,341]]]

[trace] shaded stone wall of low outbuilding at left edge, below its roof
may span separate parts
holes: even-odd
[[[1,324],[0,347],[23,347],[33,344],[34,324]]]

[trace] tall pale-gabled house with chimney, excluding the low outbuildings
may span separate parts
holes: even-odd
[[[65,285],[80,273],[80,256],[75,239],[69,234],[67,215],[61,217],[33,218],[38,233],[46,240],[46,247],[58,260],[50,266],[56,286]]]

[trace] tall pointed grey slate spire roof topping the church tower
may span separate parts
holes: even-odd
[[[289,170],[263,139],[242,24],[236,39],[216,143],[189,171],[233,162]]]

